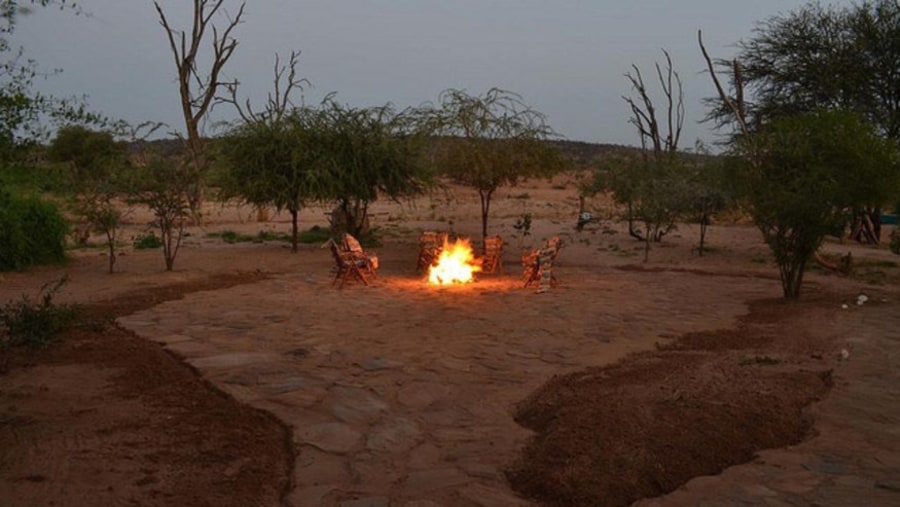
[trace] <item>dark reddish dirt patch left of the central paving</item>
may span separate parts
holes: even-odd
[[[86,307],[119,316],[256,275],[132,292]],[[0,502],[278,505],[293,454],[273,416],[213,389],[160,346],[113,325],[16,351],[0,391]],[[12,475],[11,475],[12,474]],[[11,502],[11,503],[7,503]]]

